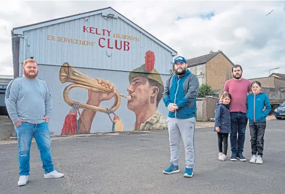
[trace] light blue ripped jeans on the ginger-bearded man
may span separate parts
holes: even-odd
[[[34,137],[40,150],[43,169],[46,173],[54,171],[52,163],[50,129],[47,122],[41,124],[22,123],[15,126],[19,146],[19,175],[30,175],[30,147]]]

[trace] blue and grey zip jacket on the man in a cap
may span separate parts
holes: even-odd
[[[189,69],[183,75],[171,75],[165,85],[163,100],[166,107],[174,103],[178,109],[175,112],[170,111],[168,116],[176,119],[195,117],[198,88],[198,77]]]

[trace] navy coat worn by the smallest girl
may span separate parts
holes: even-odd
[[[230,112],[229,106],[223,104],[222,101],[217,102],[216,110],[215,110],[215,126],[214,131],[216,131],[216,127],[220,127],[220,132],[230,133]]]

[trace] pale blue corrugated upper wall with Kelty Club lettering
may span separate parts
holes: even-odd
[[[85,32],[83,26],[87,29]],[[94,28],[90,31],[90,27]],[[96,28],[101,35],[96,34]],[[103,29],[111,31],[110,36]],[[158,72],[171,74],[171,51],[146,37],[120,18],[107,17],[105,19],[102,14],[97,14],[25,31],[23,34],[27,37],[26,58],[34,57],[39,64],[62,65],[68,62],[76,67],[131,71],[145,63],[145,53],[151,50],[155,54],[155,68]],[[117,34],[136,37],[138,40],[117,38]],[[101,40],[104,48],[99,46],[100,38],[106,39]],[[113,49],[107,48],[108,39]],[[115,48],[115,40],[118,41],[118,48],[122,41],[121,50]],[[128,51],[124,51],[124,41],[129,42]],[[85,45],[80,44],[82,42]],[[23,40],[21,40],[21,45],[21,52],[23,52]]]

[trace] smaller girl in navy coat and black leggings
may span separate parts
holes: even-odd
[[[230,99],[230,94],[225,92],[221,101],[217,102],[215,110],[215,126],[213,130],[217,131],[218,134],[219,160],[221,161],[224,161],[227,158],[228,134],[231,131],[229,112]]]

